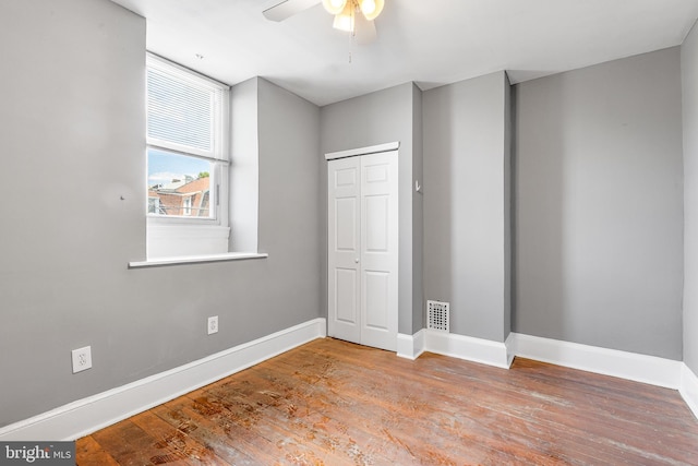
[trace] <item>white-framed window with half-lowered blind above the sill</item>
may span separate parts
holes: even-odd
[[[228,87],[148,55],[146,93],[148,258],[227,252]]]

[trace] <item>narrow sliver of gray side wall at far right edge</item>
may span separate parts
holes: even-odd
[[[681,49],[684,121],[684,362],[698,374],[698,27]]]

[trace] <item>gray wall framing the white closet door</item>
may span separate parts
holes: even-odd
[[[324,154],[350,148],[365,147],[387,142],[399,141],[399,316],[398,332],[412,335],[421,328],[422,302],[416,302],[419,295],[413,294],[416,277],[421,277],[419,262],[414,262],[414,231],[419,226],[414,224],[416,215],[420,215],[420,206],[413,202],[413,169],[414,162],[413,123],[414,109],[419,108],[419,89],[412,83],[400,84],[384,91],[351,98],[321,109],[321,152],[318,157],[322,165],[321,186],[323,215],[323,296],[322,302],[325,315],[327,313],[327,165]],[[419,130],[418,130],[419,131]],[[419,150],[417,150],[419,151]],[[419,153],[417,158],[419,158]],[[417,213],[413,210],[417,210]],[[414,323],[419,322],[419,326]]]

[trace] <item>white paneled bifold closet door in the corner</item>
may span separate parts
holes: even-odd
[[[330,160],[328,334],[397,349],[397,152]]]

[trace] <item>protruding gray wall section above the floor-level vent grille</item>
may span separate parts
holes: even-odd
[[[504,342],[504,72],[423,95],[424,298],[450,302],[450,332]]]

